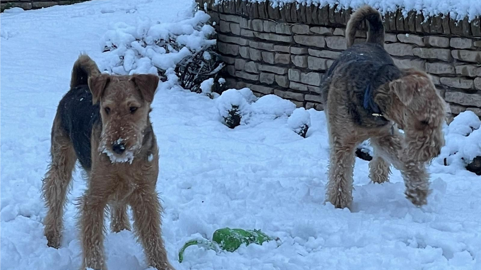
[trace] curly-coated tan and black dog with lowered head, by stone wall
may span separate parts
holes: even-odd
[[[364,21],[367,40],[354,44]],[[348,49],[321,84],[330,142],[326,200],[337,208],[350,206],[354,152],[370,139],[371,180],[388,181],[392,164],[402,173],[406,197],[416,206],[425,205],[429,193],[425,167],[445,143],[445,102],[428,74],[395,66],[384,50],[384,26],[374,8],[364,6],[351,15],[346,42]]]

